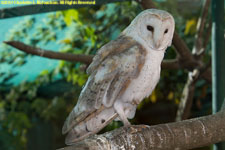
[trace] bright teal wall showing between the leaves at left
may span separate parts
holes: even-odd
[[[15,5],[0,5],[1,8],[6,7],[14,7]],[[54,12],[53,12],[54,13]],[[38,15],[32,15],[32,17],[35,17],[36,19],[36,26],[41,24],[41,21],[45,18],[46,15],[50,13],[45,14],[38,14]],[[29,18],[30,16],[22,16],[22,17],[15,17],[10,19],[1,19],[0,20],[0,51],[3,50],[3,41],[7,37],[7,33],[9,33],[13,28],[16,28],[16,25],[23,19]],[[59,45],[56,43],[49,43],[47,45],[39,45],[43,49],[49,49],[49,50],[58,50]],[[17,51],[15,49],[15,51]],[[12,68],[7,65],[1,65],[0,66],[0,72],[8,72],[8,71],[16,71],[18,72],[18,75],[16,75],[14,78],[10,80],[10,83],[13,84],[19,84],[21,81],[31,81],[34,80],[35,77],[40,73],[42,70],[51,70],[57,65],[57,60],[51,60],[46,58],[41,58],[38,56],[32,56],[28,57],[27,63],[23,65],[20,68]],[[1,79],[0,79],[1,82]]]

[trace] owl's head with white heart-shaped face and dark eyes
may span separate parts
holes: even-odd
[[[168,12],[148,9],[141,12],[123,31],[152,50],[165,50],[172,43],[175,22]]]

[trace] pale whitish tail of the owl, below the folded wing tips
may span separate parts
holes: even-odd
[[[88,117],[88,120],[85,119],[83,122],[80,122],[69,131],[65,143],[67,145],[72,145],[90,135],[99,132],[116,117],[118,117],[118,114],[112,107],[105,108],[97,115],[92,114],[92,117]]]

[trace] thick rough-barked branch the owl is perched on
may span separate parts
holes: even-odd
[[[60,150],[183,150],[225,141],[225,114],[155,126],[122,127]]]

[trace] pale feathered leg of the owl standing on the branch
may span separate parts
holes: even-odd
[[[120,120],[123,122],[123,125],[124,126],[131,125],[130,122],[128,121],[127,115],[125,113],[124,103],[120,102],[120,101],[116,101],[114,103],[114,108],[115,108],[117,114],[119,115]]]

